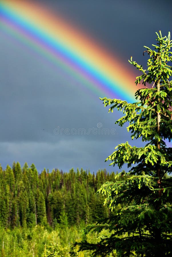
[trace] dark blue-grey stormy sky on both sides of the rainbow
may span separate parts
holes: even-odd
[[[146,65],[143,45],[155,43],[155,31],[163,35],[172,31],[171,1],[63,0],[39,1],[53,9],[73,26],[79,27],[98,44],[120,56],[127,64],[130,56]],[[106,168],[104,160],[114,147],[131,141],[125,128],[114,125],[121,113],[108,114],[99,97],[80,90],[77,81],[69,81],[57,69],[30,54],[22,42],[11,40],[0,25],[0,156],[3,168],[13,161],[21,165],[34,163],[68,171],[77,167]],[[108,65],[108,64],[107,64]],[[134,83],[134,80],[133,80]],[[63,85],[58,87],[57,85]],[[109,135],[95,134],[93,129],[107,128]],[[85,129],[89,134],[67,134]],[[126,167],[124,167],[126,169]]]

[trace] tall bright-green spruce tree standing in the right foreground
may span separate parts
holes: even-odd
[[[106,159],[119,168],[127,163],[130,176],[105,182],[98,190],[106,195],[105,204],[113,216],[87,226],[84,233],[99,233],[104,228],[111,235],[102,236],[97,244],[76,243],[80,251],[91,250],[93,256],[111,256],[115,251],[117,256],[172,256],[172,147],[166,145],[172,139],[172,41],[170,33],[167,37],[161,31],[156,34],[154,50],[145,47],[143,52],[149,56],[147,70],[132,57],[129,61],[141,72],[135,81],[143,84],[135,93],[137,102],[101,99],[105,106],[110,105],[109,112],[114,108],[123,111],[116,123],[122,127],[128,122],[131,138],[141,137],[145,146],[121,143]]]

